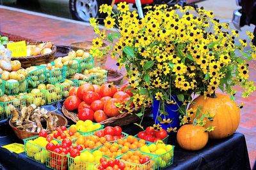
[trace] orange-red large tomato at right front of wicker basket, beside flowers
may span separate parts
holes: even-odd
[[[116,117],[120,114],[120,108],[116,108],[115,103],[120,103],[120,101],[113,98],[104,104],[104,113],[106,113],[108,117]]]

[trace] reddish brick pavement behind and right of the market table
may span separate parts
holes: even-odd
[[[95,35],[92,27],[17,11],[0,8],[0,17],[0,31],[29,39],[52,41],[58,45],[70,45],[74,41],[91,40]],[[249,64],[251,79],[256,81],[256,62],[252,61]],[[108,57],[106,66],[116,68],[115,60]],[[238,90],[236,102],[244,103],[237,131],[242,132],[246,136],[250,164],[253,166],[256,160],[256,92],[253,92],[250,97],[243,99],[241,97],[241,89],[239,87],[236,89]]]

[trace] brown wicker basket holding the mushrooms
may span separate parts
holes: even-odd
[[[58,117],[57,126],[63,126],[63,125],[66,126],[68,124],[67,118],[65,118],[57,113],[54,113],[54,114]],[[12,118],[9,121],[9,125],[10,125],[10,127],[12,127],[13,132],[15,132],[16,136],[19,139],[26,139],[26,138],[30,138],[32,136],[38,136],[38,133],[36,133],[36,132],[27,132],[27,131],[22,131],[20,129],[17,129],[16,127],[13,126],[11,120],[12,120]]]

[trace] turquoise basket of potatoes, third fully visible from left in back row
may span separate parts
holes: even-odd
[[[47,70],[45,69],[45,73],[47,75],[47,82],[50,84],[55,84],[55,83],[61,83],[65,81],[66,78],[66,67],[62,67],[61,69],[52,69],[52,70]]]

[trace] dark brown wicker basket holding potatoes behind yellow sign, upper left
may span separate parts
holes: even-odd
[[[38,45],[40,43],[46,43],[46,41],[36,41],[36,42],[26,42],[27,45]],[[54,60],[54,55],[56,53],[56,45],[52,43],[52,52],[47,54],[40,54],[27,57],[13,57],[12,60],[19,60],[21,67],[27,68],[31,66],[39,66],[41,64],[47,64]]]

